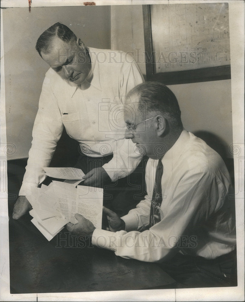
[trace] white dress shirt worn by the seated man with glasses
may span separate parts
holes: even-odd
[[[161,221],[139,232],[149,225],[157,163],[149,159],[146,166],[145,200],[122,217],[126,231],[95,229],[92,243],[147,262],[167,260],[175,252],[214,259],[234,250],[230,175],[221,157],[186,130],[162,158]]]

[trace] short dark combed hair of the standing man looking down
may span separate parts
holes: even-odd
[[[44,31],[38,38],[36,43],[36,50],[38,51],[40,56],[41,51],[45,54],[50,52],[51,41],[54,37],[58,37],[66,43],[74,43],[77,41],[77,36],[73,31],[70,30],[69,27],[60,22],[57,22],[49,27],[46,31]]]

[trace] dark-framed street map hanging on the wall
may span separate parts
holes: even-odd
[[[230,79],[228,3],[143,5],[143,17],[148,80]]]

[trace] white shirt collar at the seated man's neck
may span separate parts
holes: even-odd
[[[177,162],[179,157],[181,156],[183,150],[184,150],[184,145],[187,143],[189,140],[189,133],[185,129],[181,132],[178,140],[176,140],[175,144],[170,148],[162,157],[162,164],[164,166],[165,163],[172,162],[172,165]]]

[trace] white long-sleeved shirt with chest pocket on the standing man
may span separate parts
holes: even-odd
[[[122,51],[87,49],[91,70],[82,85],[62,79],[51,68],[46,73],[19,195],[31,194],[31,186],[44,181],[42,167],[49,166],[63,127],[84,154],[113,153],[113,159],[103,165],[112,181],[134,171],[142,158],[135,144],[124,139],[123,119],[126,95],[143,82],[138,65]]]

